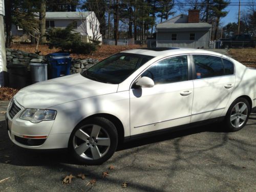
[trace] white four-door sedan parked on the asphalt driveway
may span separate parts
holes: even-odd
[[[228,131],[242,129],[256,107],[255,82],[255,69],[215,52],[123,51],[20,90],[7,129],[18,146],[69,148],[84,164],[101,164],[118,143],[147,134],[218,120]]]

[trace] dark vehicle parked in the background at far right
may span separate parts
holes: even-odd
[[[231,38],[220,39],[221,48],[229,49],[236,47],[252,47],[255,48],[255,41],[250,34],[234,35]]]

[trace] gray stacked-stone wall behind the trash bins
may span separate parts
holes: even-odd
[[[44,55],[37,55],[35,53],[28,53],[16,49],[6,49],[7,66],[9,64],[22,64],[29,66],[30,62],[44,62],[47,63],[47,57]],[[70,73],[80,73],[87,70],[98,62],[97,59],[72,59]]]

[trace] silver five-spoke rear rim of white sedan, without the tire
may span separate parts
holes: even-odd
[[[241,127],[245,121],[247,120],[248,116],[248,108],[246,103],[239,102],[234,105],[231,115],[230,115],[230,122],[233,127]]]

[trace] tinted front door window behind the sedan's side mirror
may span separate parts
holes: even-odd
[[[186,81],[188,78],[187,56],[163,59],[142,73],[141,77],[144,76],[152,78],[155,84]]]

